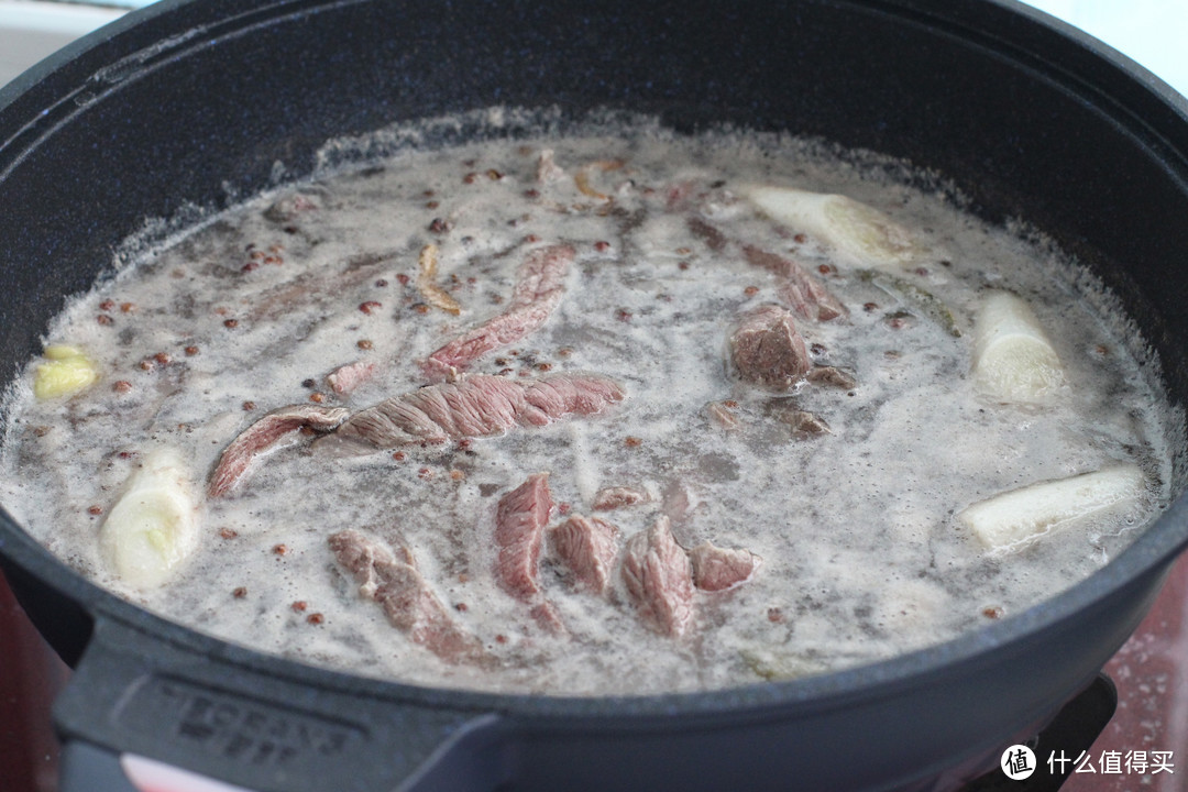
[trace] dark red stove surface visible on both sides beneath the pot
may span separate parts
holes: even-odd
[[[1175,565],[1151,613],[1105,670],[1118,689],[1117,711],[1087,755],[1055,758],[1081,760],[1061,792],[1188,792],[1188,556]],[[0,576],[4,792],[57,788],[58,747],[50,705],[68,678],[69,669],[42,640]],[[1045,771],[1049,756],[1042,747],[1036,760]],[[1001,780],[1003,790],[1012,784],[1023,788],[1022,783]]]

